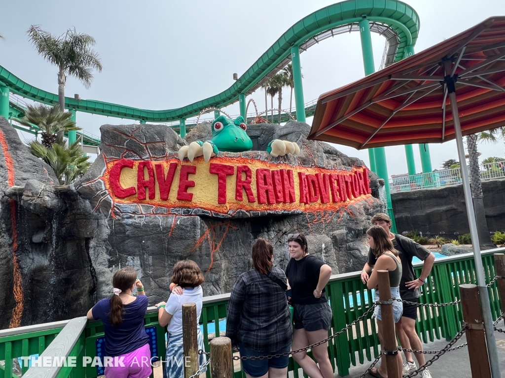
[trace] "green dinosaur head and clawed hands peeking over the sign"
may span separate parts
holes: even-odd
[[[195,157],[204,155],[204,160],[208,162],[219,151],[250,151],[252,141],[245,132],[246,130],[247,125],[241,116],[231,120],[221,115],[212,122],[211,140],[206,142],[195,141],[191,142],[189,146],[182,146],[179,149],[179,160],[182,161],[187,157],[190,161],[193,161]],[[300,148],[296,143],[275,139],[268,144],[267,152],[274,157],[284,156],[288,153],[299,155]]]

